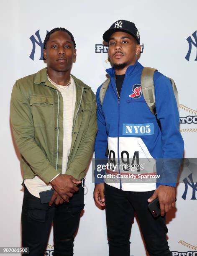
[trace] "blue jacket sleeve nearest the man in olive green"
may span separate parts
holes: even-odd
[[[102,164],[105,165],[107,163],[108,159],[105,155],[107,150],[107,132],[105,117],[102,113],[102,105],[100,104],[100,87],[96,92],[98,132],[95,140],[95,184],[104,183],[104,178],[101,175],[105,174],[105,170],[100,169]]]

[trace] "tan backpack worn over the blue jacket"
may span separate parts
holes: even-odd
[[[141,74],[141,87],[144,100],[146,101],[148,108],[151,110],[151,113],[156,115],[156,108],[155,108],[155,92],[154,92],[154,72],[157,69],[153,69],[150,67],[144,67]],[[169,78],[172,85],[172,90],[174,91],[174,96],[177,101],[177,107],[179,110],[179,97],[176,84],[173,79]],[[107,78],[105,82],[102,84],[100,88],[100,104],[102,105],[103,99],[105,97],[105,93],[107,91],[108,85],[110,83],[110,78]]]

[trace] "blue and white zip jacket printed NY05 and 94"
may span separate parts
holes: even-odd
[[[161,123],[160,129],[141,91],[142,70],[143,66],[138,61],[127,68],[120,100],[115,85],[114,68],[106,69],[110,84],[102,105],[99,97],[101,86],[96,93],[98,125],[95,141],[96,163],[99,163],[99,159],[108,159],[106,156],[108,150],[110,162],[114,163],[116,159],[117,164],[120,164],[121,159],[124,161],[126,158],[138,158],[139,164],[141,159],[153,159],[156,161],[156,173],[161,174],[155,182],[140,184],[124,182],[120,175],[118,178],[105,180],[113,187],[128,191],[150,191],[156,189],[159,184],[175,187],[180,159],[184,151],[184,142],[179,132],[179,112],[170,80],[159,72],[154,73],[156,113]],[[96,170],[95,183],[103,183],[104,178],[97,178]],[[148,171],[153,172],[150,169]],[[118,168],[114,173],[127,173],[127,170]],[[135,173],[140,174],[141,171],[138,169]]]

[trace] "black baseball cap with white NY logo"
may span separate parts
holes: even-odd
[[[135,37],[138,44],[140,44],[140,33],[133,22],[128,20],[117,20],[107,31],[105,31],[102,36],[103,40],[109,43],[110,36],[116,31],[123,31],[130,34],[131,36]]]

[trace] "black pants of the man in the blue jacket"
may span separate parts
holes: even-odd
[[[170,256],[165,217],[154,218],[148,210],[148,198],[154,191],[123,191],[105,184],[107,235],[110,256],[130,256],[130,232],[134,212],[138,217],[146,249],[150,256]]]

